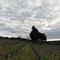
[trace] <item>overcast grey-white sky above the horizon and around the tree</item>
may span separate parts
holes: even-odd
[[[0,0],[0,36],[29,38],[33,25],[60,39],[60,0]]]

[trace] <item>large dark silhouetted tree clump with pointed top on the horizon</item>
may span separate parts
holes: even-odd
[[[39,32],[38,29],[35,28],[35,26],[32,27],[30,38],[34,42],[36,42],[37,40],[44,42],[47,39],[46,35],[44,33]]]

